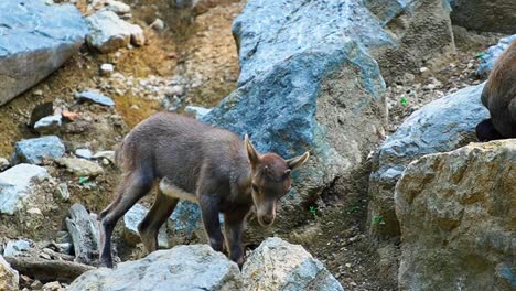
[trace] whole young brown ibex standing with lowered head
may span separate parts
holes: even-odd
[[[151,209],[138,226],[149,252],[158,248],[158,230],[180,198],[201,206],[202,220],[214,250],[223,251],[218,214],[224,214],[229,258],[240,267],[244,223],[251,206],[258,220],[270,226],[278,201],[291,187],[290,173],[310,157],[283,160],[260,154],[245,137],[174,114],[157,114],[140,122],[117,154],[123,180],[116,200],[100,213],[100,263],[112,267],[111,235],[118,219],[160,180]]]

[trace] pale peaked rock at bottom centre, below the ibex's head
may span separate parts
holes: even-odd
[[[252,251],[241,271],[244,290],[344,290],[337,280],[300,245],[268,238]]]

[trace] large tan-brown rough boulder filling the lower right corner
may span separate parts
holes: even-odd
[[[395,200],[400,290],[516,289],[516,139],[424,155]]]

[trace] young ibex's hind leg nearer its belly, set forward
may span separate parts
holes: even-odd
[[[161,191],[158,191],[154,204],[140,225],[138,225],[138,233],[147,251],[152,252],[158,249],[158,233],[160,231],[160,227],[170,217],[178,202],[178,198],[164,195]]]

